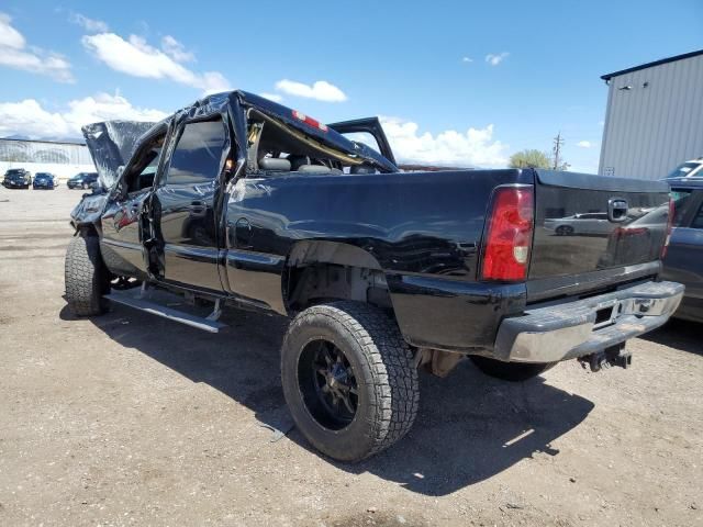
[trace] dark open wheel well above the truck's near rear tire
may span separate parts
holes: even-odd
[[[354,300],[392,312],[386,274],[366,250],[332,242],[302,242],[291,251],[284,281],[289,312],[331,300]]]

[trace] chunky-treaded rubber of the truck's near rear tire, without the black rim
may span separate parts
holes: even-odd
[[[320,424],[301,392],[299,360],[316,339],[327,339],[344,352],[358,384],[356,414],[342,429]],[[408,434],[420,405],[410,347],[392,319],[360,302],[331,302],[298,314],[283,339],[281,380],[300,431],[317,450],[341,461],[360,461],[393,445]]]

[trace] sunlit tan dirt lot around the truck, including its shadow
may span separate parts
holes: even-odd
[[[411,434],[342,464],[271,441],[283,319],[68,314],[80,194],[0,188],[0,525],[703,525],[703,325],[632,341],[629,370],[425,374]]]

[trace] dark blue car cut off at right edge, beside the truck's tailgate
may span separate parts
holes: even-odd
[[[703,178],[669,179],[676,215],[662,279],[685,285],[674,317],[703,322]]]

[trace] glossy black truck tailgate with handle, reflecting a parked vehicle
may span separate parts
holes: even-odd
[[[638,278],[637,269],[658,269],[647,264],[657,262],[667,237],[666,183],[538,170],[535,187],[528,278],[543,282],[533,288],[539,296],[547,295],[549,279],[567,277],[571,289],[592,289],[594,277],[622,282]]]

